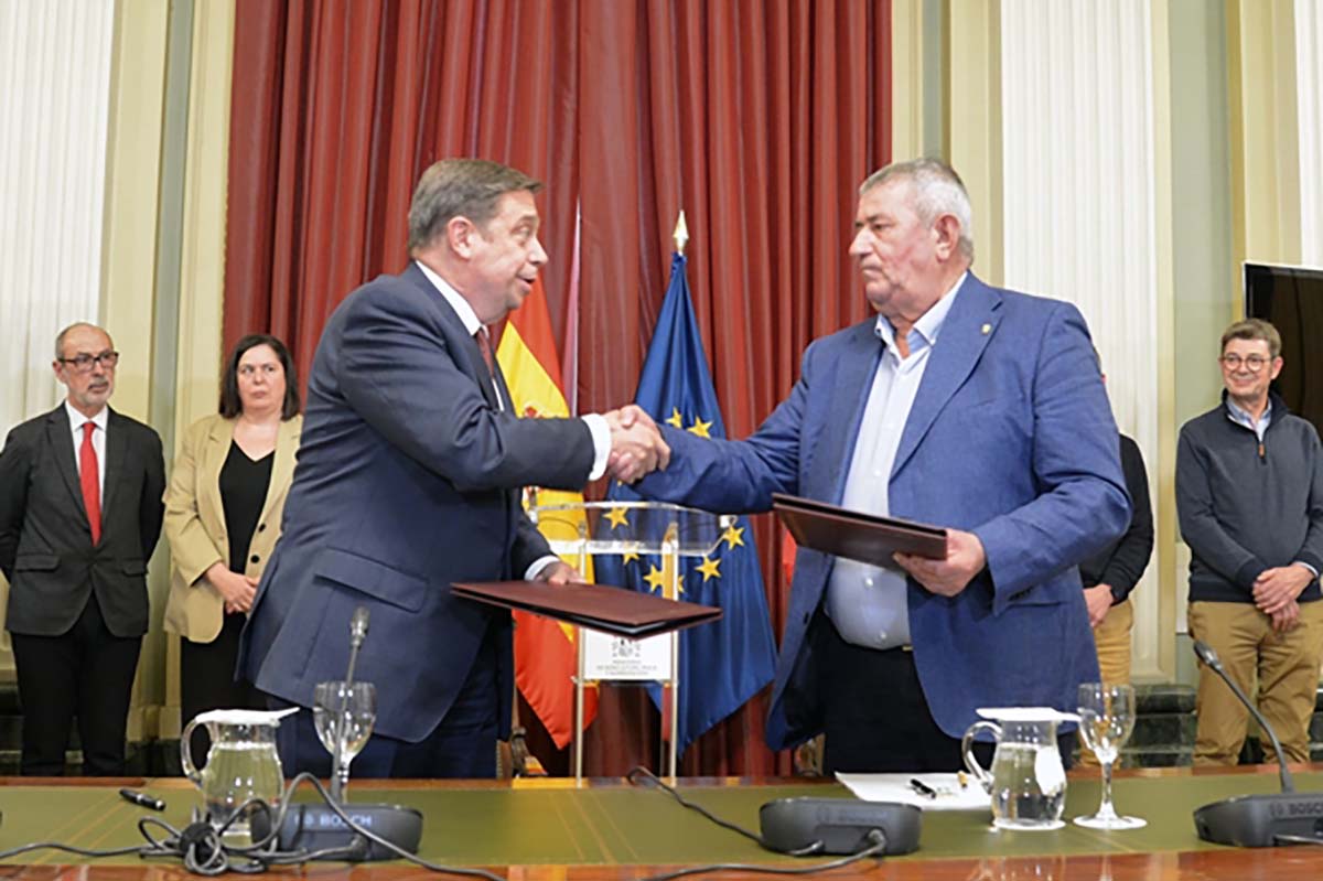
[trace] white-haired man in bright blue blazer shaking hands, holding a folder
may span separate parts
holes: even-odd
[[[1117,427],[1078,311],[968,271],[971,209],[947,165],[875,173],[856,228],[877,317],[810,345],[749,439],[663,427],[671,464],[638,487],[713,511],[786,492],[947,526],[939,561],[799,549],[766,737],[826,732],[828,771],[955,770],[975,708],[1073,710],[1098,679],[1077,564],[1130,516]]]

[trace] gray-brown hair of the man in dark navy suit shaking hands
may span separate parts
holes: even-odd
[[[409,253],[431,245],[455,217],[483,226],[496,216],[505,193],[536,193],[541,181],[486,159],[442,159],[418,180],[409,206]]]

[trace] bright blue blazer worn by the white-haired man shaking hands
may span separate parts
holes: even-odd
[[[766,511],[773,492],[839,503],[882,344],[869,319],[816,340],[790,397],[747,441],[665,429],[651,497]],[[978,706],[1074,712],[1097,681],[1077,564],[1130,517],[1117,426],[1080,312],[972,274],[929,355],[890,475],[890,512],[972,532],[987,569],[957,597],[909,581],[914,664],[933,717],[960,737]],[[822,730],[808,624],[835,557],[800,548],[766,738]]]

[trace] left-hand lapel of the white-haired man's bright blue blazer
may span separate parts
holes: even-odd
[[[856,324],[840,353],[840,361],[832,377],[831,402],[820,444],[814,451],[814,462],[827,468],[804,495],[824,497],[840,503],[845,495],[845,478],[855,456],[855,443],[859,439],[859,423],[864,421],[864,407],[868,393],[873,388],[877,361],[882,357],[882,341],[873,332],[877,319]],[[819,487],[831,487],[828,493],[819,495]]]

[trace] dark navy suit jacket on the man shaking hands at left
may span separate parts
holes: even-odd
[[[319,681],[344,679],[349,619],[366,606],[355,677],[377,685],[376,732],[417,742],[493,628],[507,732],[509,615],[451,597],[450,585],[523,578],[549,552],[520,489],[578,488],[591,467],[581,419],[497,410],[478,344],[417,265],[360,287],[318,344],[283,534],[243,631],[241,673],[310,706]]]

